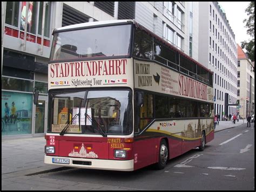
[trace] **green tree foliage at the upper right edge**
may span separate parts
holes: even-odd
[[[246,54],[254,61],[254,2],[251,2],[245,10],[247,15],[249,16],[248,19],[244,19],[244,23],[246,23],[245,27],[247,28],[247,34],[252,37],[252,39],[247,42],[241,42],[242,49],[246,49]]]

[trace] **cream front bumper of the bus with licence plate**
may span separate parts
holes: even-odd
[[[55,162],[53,162],[55,161]],[[57,157],[44,155],[44,163],[55,164],[65,167],[76,167],[85,169],[120,170],[129,172],[133,170],[133,160],[103,160],[83,159],[73,157]]]

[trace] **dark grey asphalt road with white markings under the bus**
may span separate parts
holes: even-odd
[[[203,152],[193,149],[170,160],[163,170],[153,166],[134,172],[74,168],[40,177],[140,190],[255,190],[253,126],[217,132]]]

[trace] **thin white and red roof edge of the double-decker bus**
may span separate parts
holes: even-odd
[[[102,21],[98,21],[98,22],[79,23],[79,24],[74,24],[74,25],[63,26],[62,28],[57,28],[57,29],[55,29],[53,31],[53,33],[57,32],[57,31],[65,31],[65,30],[71,30],[71,29],[86,28],[86,27],[90,27],[90,26],[100,26],[100,25],[109,25],[109,24],[113,24],[114,25],[114,24],[125,24],[125,23],[133,23],[133,24],[135,24],[136,27],[146,31],[151,36],[157,38],[158,40],[160,40],[160,42],[166,44],[167,46],[169,46],[174,51],[179,52],[182,56],[184,56],[188,60],[191,60],[193,63],[196,63],[200,67],[204,68],[206,71],[208,71],[210,73],[213,73],[210,69],[206,68],[204,65],[200,64],[198,61],[194,60],[192,57],[188,56],[183,51],[180,51],[179,49],[177,49],[175,46],[173,46],[171,43],[167,42],[166,40],[164,40],[160,36],[154,34],[152,31],[150,31],[149,29],[145,28],[143,25],[139,24],[134,19],[102,20]]]

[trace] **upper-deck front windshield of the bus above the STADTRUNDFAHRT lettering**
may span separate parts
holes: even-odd
[[[130,55],[131,25],[55,32],[50,61]]]

